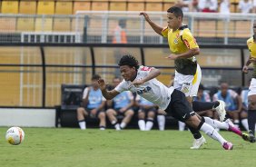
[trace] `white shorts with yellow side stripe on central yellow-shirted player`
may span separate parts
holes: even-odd
[[[197,96],[199,84],[202,79],[202,72],[199,64],[197,64],[196,73],[194,75],[180,74],[175,71],[174,89],[182,91],[186,97]]]

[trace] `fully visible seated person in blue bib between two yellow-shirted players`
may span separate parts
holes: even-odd
[[[229,89],[228,83],[221,83],[221,90],[213,95],[213,101],[222,100],[226,103],[226,111],[233,119],[236,127],[239,127],[239,114],[241,113],[241,97],[238,93]]]

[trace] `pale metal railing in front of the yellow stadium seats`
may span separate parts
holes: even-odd
[[[1,14],[0,43],[29,42],[30,38],[32,43],[109,44],[114,27],[123,19],[128,44],[166,44],[167,40],[155,34],[138,14],[113,11],[78,11],[76,15]],[[153,22],[166,25],[165,12],[148,14]],[[252,34],[255,18],[255,14],[185,13],[183,22],[189,25],[199,44],[245,44]],[[34,40],[36,35],[40,40]],[[44,40],[54,36],[58,39]],[[75,40],[67,40],[73,37]]]

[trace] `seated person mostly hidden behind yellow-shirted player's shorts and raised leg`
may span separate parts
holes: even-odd
[[[204,91],[204,87],[202,84],[199,85],[197,96],[194,98],[194,101],[200,101],[200,102],[211,102],[211,98],[209,93]],[[212,110],[206,110],[202,112],[197,112],[201,116],[208,116],[213,117],[213,111]]]

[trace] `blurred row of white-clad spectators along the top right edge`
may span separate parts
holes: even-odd
[[[231,13],[230,0],[178,0],[176,5],[182,8],[183,12],[210,12],[210,13]],[[256,0],[240,0],[235,4],[234,10],[242,14],[256,13]]]

